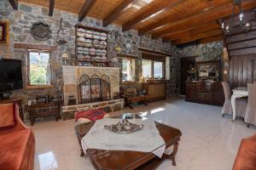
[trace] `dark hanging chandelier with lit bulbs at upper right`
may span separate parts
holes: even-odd
[[[241,8],[241,0],[233,0],[230,23],[224,23],[224,20],[221,22],[221,28],[224,31],[225,35],[231,35],[232,29],[234,28],[234,15],[236,6],[239,8],[239,26],[241,26],[241,29],[246,33],[252,30],[252,23],[245,20],[245,14],[243,13]]]

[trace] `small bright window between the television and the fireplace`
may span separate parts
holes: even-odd
[[[28,85],[51,85],[51,62],[48,51],[28,51]]]

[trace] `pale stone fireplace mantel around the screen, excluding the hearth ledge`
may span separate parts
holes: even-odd
[[[88,77],[106,75],[110,82],[110,98],[113,99],[114,94],[119,94],[119,68],[117,67],[98,67],[98,66],[76,66],[63,65],[63,93],[64,105],[68,105],[68,97],[73,96],[76,99],[76,104],[79,104],[79,82],[84,75]]]

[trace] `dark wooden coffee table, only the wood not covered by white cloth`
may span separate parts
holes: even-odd
[[[122,118],[124,116],[115,116],[113,118]],[[142,118],[135,115],[135,118]],[[131,169],[153,169],[157,167],[161,161],[171,159],[172,165],[176,166],[175,156],[177,154],[177,145],[182,133],[174,127],[166,126],[162,123],[155,122],[161,137],[166,142],[166,149],[173,145],[171,155],[163,155],[159,158],[153,152],[139,152],[127,150],[96,150],[88,148],[86,155],[89,156],[90,161],[94,164],[96,169],[99,170],[131,170]],[[81,139],[86,133],[89,132],[90,127],[94,122],[82,123],[75,127],[79,139],[79,146],[81,155],[84,156],[84,150],[81,146]],[[85,144],[86,145],[86,144]],[[157,148],[155,148],[157,149]],[[152,150],[154,151],[154,149]]]

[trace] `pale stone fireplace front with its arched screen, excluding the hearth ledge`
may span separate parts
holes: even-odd
[[[62,66],[64,105],[87,105],[113,99],[119,94],[119,68]]]

